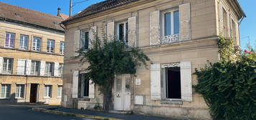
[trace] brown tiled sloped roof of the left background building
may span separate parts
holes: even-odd
[[[45,29],[64,31],[60,26],[60,23],[64,21],[61,16],[45,14],[40,11],[25,9],[3,2],[0,2],[0,19],[41,26]]]

